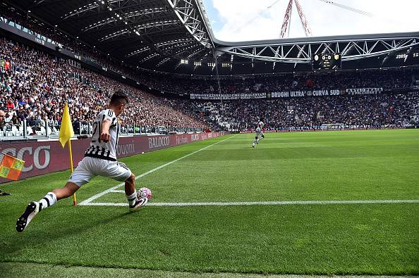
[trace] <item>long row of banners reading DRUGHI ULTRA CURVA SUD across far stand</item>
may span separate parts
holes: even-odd
[[[323,89],[306,91],[273,91],[272,93],[245,93],[245,94],[190,94],[190,99],[288,99],[305,96],[353,96],[358,94],[381,94],[382,88],[358,88],[358,89]]]

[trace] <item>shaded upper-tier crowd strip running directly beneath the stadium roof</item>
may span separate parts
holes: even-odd
[[[222,77],[221,80],[207,77],[181,77],[156,73],[135,72],[118,61],[112,60],[97,49],[83,44],[80,40],[60,32],[55,27],[40,22],[28,13],[13,10],[9,6],[0,6],[0,14],[13,22],[28,27],[30,30],[63,44],[66,49],[90,58],[91,61],[120,72],[126,77],[147,85],[157,91],[172,94],[237,94],[271,93],[289,90],[350,89],[363,87],[381,87],[383,89],[407,88],[413,85],[413,77],[419,76],[419,70],[400,68],[398,70],[356,70],[351,72],[303,72],[284,73],[281,75],[255,75],[247,77]]]

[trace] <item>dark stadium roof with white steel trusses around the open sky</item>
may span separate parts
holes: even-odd
[[[403,56],[419,52],[419,32],[231,43],[214,38],[201,0],[6,2],[128,65],[162,72],[305,71],[322,52],[341,53],[344,68],[419,65],[418,56]]]

